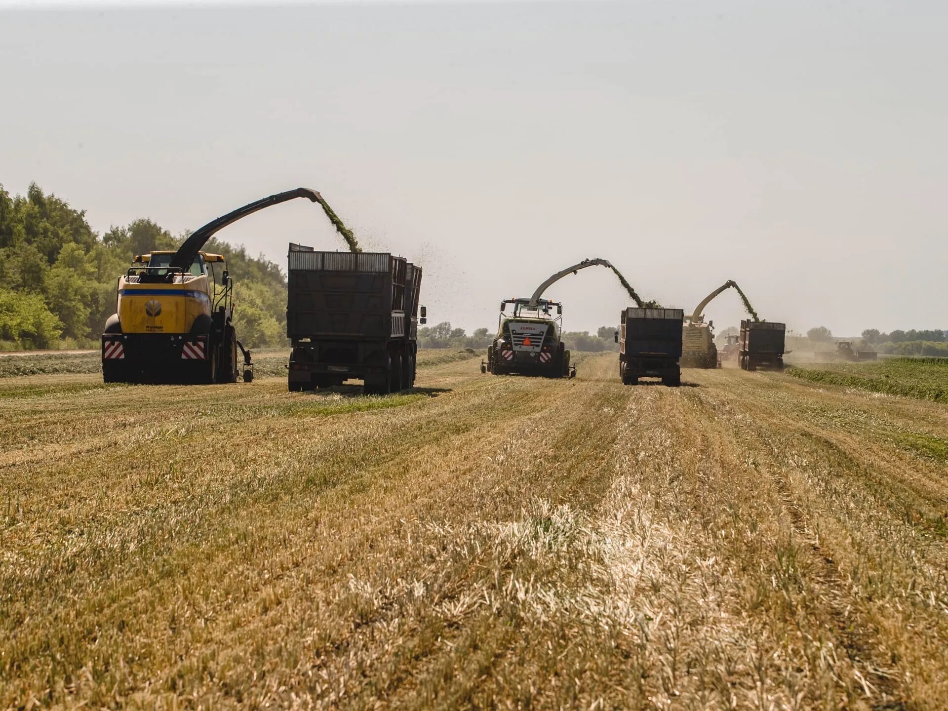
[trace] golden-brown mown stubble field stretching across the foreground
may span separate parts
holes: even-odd
[[[944,707],[948,408],[576,365],[0,381],[0,708]]]

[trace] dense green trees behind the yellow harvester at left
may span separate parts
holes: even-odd
[[[10,195],[0,185],[0,350],[98,345],[105,319],[116,310],[118,276],[133,257],[176,249],[186,237],[147,218],[99,235],[84,210],[35,183],[26,195]],[[280,267],[214,238],[204,249],[228,260],[241,340],[258,348],[283,345]]]

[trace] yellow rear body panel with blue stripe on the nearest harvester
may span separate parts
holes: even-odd
[[[133,278],[134,279],[134,278]],[[210,316],[207,276],[175,283],[118,280],[118,321],[125,334],[187,334],[194,319]]]

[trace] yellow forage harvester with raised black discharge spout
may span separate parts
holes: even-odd
[[[232,383],[243,368],[249,382],[253,362],[234,330],[227,261],[201,247],[219,229],[297,197],[316,202],[319,193],[298,188],[264,197],[195,230],[177,250],[136,255],[118,278],[116,313],[101,335],[102,379]]]

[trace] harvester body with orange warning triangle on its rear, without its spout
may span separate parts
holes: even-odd
[[[481,372],[494,375],[575,375],[570,352],[560,334],[563,329],[563,304],[539,299],[501,301],[497,336],[487,346],[487,358]]]

